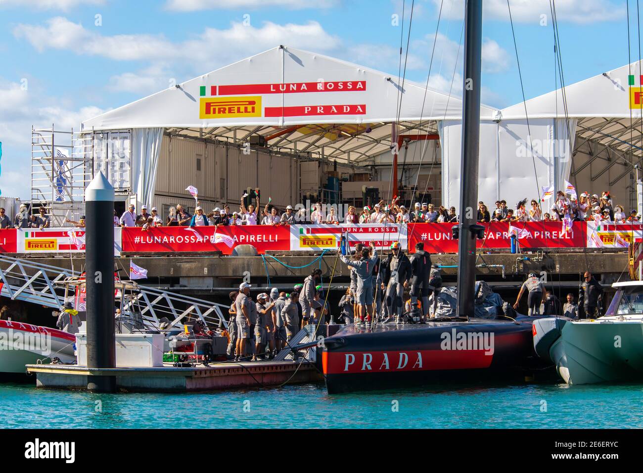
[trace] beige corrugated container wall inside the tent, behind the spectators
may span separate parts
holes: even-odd
[[[197,170],[198,161],[201,171]],[[194,208],[194,199],[185,197],[188,194],[185,188],[194,185],[199,189],[199,202],[204,209],[212,210],[222,203],[236,207],[233,204],[239,203],[248,187],[259,187],[264,204],[270,197],[271,203],[284,209],[299,201],[298,184],[298,161],[289,156],[257,149],[244,154],[235,145],[163,136],[154,201],[159,211],[161,205],[170,203],[191,202]]]

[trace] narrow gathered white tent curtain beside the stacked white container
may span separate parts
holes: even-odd
[[[161,154],[163,128],[136,128],[132,130],[132,177],[137,200],[152,206],[156,171]]]

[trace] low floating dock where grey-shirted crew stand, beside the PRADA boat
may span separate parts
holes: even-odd
[[[282,384],[323,380],[309,362],[260,361],[221,362],[210,366],[118,367],[89,369],[77,365],[27,365],[36,376],[37,387],[86,389],[87,376],[116,376],[116,387],[123,391],[214,391],[225,389],[273,388]]]

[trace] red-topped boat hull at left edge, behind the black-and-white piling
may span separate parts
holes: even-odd
[[[71,363],[75,340],[57,329],[0,320],[0,375],[24,374],[25,365],[51,363],[52,358]]]

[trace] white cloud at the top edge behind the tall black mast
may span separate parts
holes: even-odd
[[[433,0],[437,8],[440,8],[440,1],[442,0]],[[485,0],[482,5],[485,19],[509,21],[507,0]],[[542,15],[545,15],[547,24],[551,24],[549,0],[511,0],[509,5],[514,22],[539,24]],[[447,9],[446,6],[453,8]],[[464,16],[464,0],[445,0],[442,13],[447,17],[461,19]],[[558,0],[556,17],[559,21],[570,23],[600,23],[625,18],[626,8],[610,0]]]

